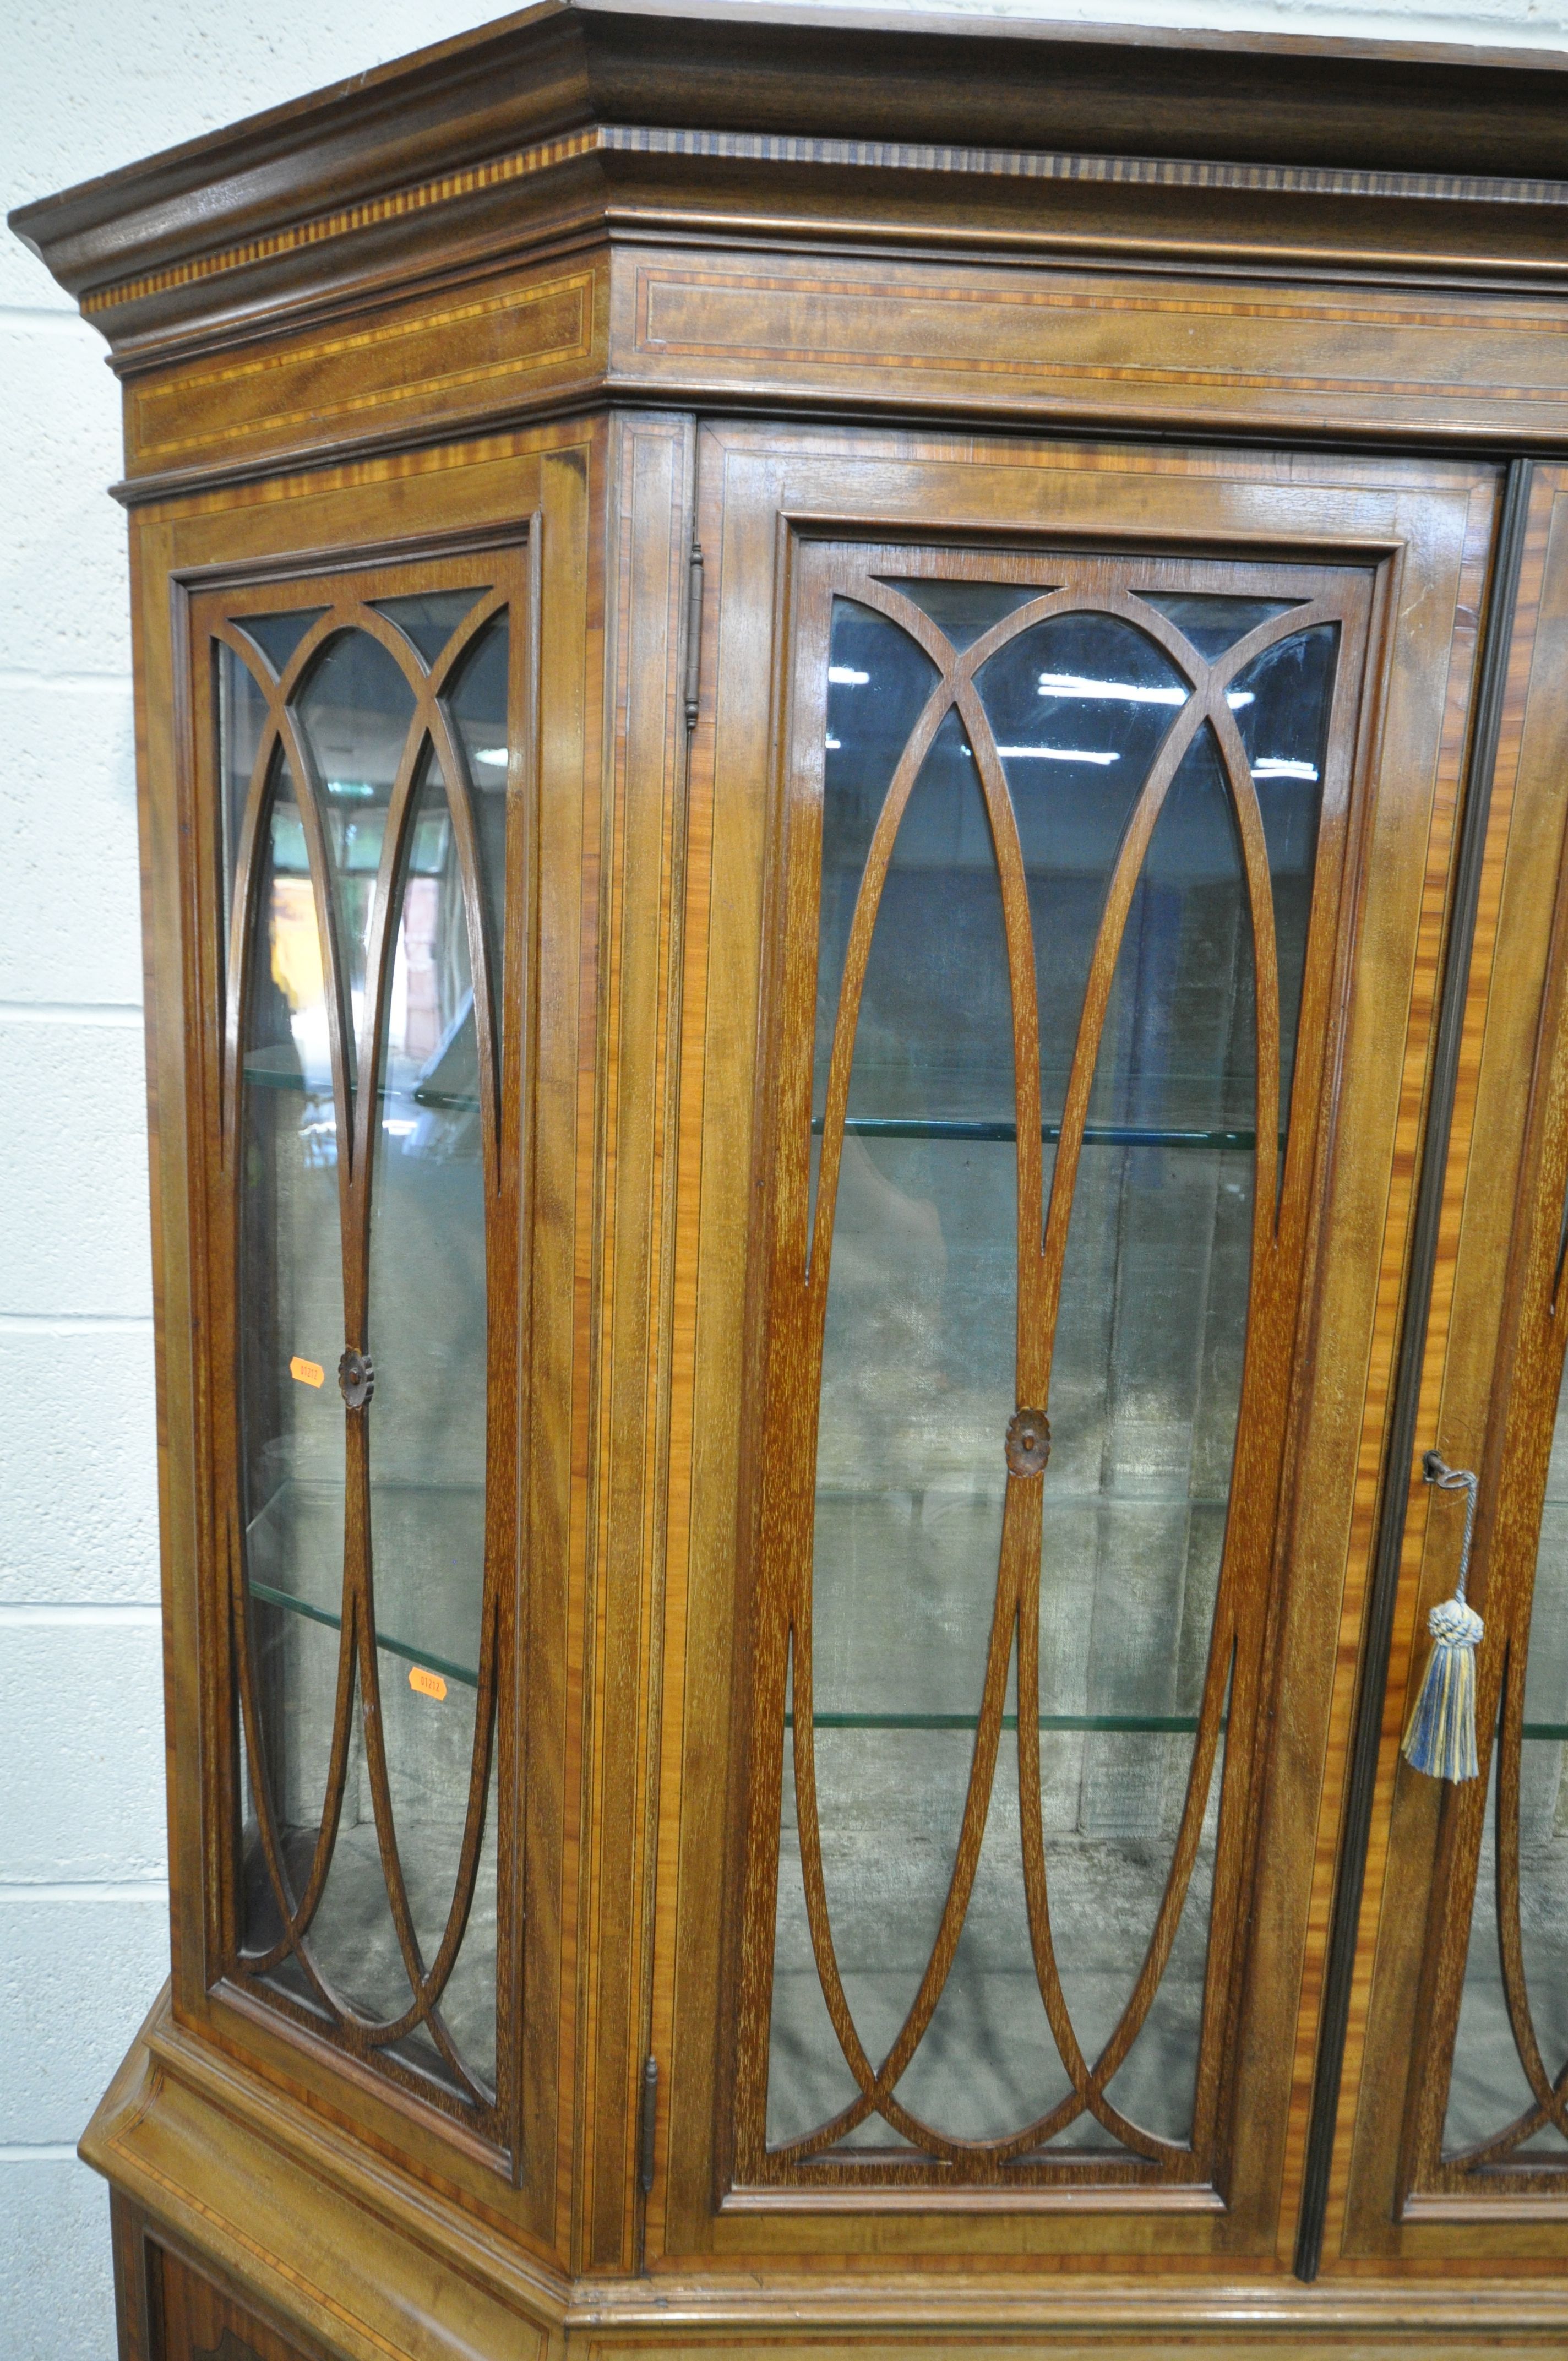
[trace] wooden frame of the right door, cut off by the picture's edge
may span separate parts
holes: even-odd
[[[1478,1742],[1490,1759],[1502,1653],[1528,1617],[1544,1447],[1556,1400],[1551,1273],[1563,1204],[1563,992],[1568,973],[1568,470],[1533,470],[1481,904],[1464,982],[1459,1091],[1440,1185],[1419,1440],[1481,1471],[1474,1596]],[[1561,1350],[1561,1346],[1556,1346]],[[1544,1428],[1542,1428],[1544,1421]],[[1327,2191],[1325,2257],[1344,2271],[1440,2271],[1455,2252],[1500,2271],[1561,2267],[1568,2186],[1440,2165],[1440,2125],[1485,1818],[1464,1787],[1400,1759],[1426,1667],[1426,1613],[1455,1584],[1455,1535],[1410,1478],[1393,1646],[1377,1752],[1346,2092]]]

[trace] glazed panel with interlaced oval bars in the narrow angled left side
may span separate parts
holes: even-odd
[[[512,576],[510,557],[345,576],[213,628],[229,1969],[498,2137]]]

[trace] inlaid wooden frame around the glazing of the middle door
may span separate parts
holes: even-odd
[[[1292,1315],[1299,1325],[1287,1329],[1294,1343],[1275,1362],[1280,1374],[1289,1372],[1292,1407],[1289,1414],[1282,1407],[1266,1414],[1282,1421],[1275,1433],[1289,1431],[1292,1450],[1280,1509],[1270,1509],[1280,1518],[1270,1544],[1270,1629],[1266,1643],[1259,1636],[1259,1646],[1266,1646],[1261,1662],[1270,1669],[1268,1676],[1261,1669],[1256,1676],[1256,1712],[1263,1719],[1254,1775],[1261,1792],[1249,1811],[1259,1816],[1263,1832],[1252,1839],[1252,1945],[1235,2028],[1226,2038],[1228,2071],[1263,2080],[1242,2080],[1247,2097],[1230,2101],[1233,2132],[1223,2144],[1223,2167],[1219,2160],[1214,2167],[1223,2208],[1214,2217],[1138,2212],[1136,2191],[1117,2203],[1115,2186],[1103,2186],[1098,2196],[1077,2193],[1072,2203],[1058,2198],[1046,2212],[1030,2212],[1015,2191],[921,2198],[914,2189],[895,2186],[860,2189],[848,2210],[831,2191],[812,2196],[803,2189],[791,2191],[782,2205],[772,2200],[758,2210],[744,2186],[737,2186],[756,2172],[756,2134],[749,2134],[751,2146],[739,2149],[734,2141],[741,2134],[727,2125],[732,2092],[746,2087],[746,2042],[753,2045],[756,2089],[763,2021],[744,2000],[749,1986],[739,1896],[746,1882],[746,1827],[777,1827],[775,1790],[758,1790],[749,1799],[741,1780],[741,1761],[756,1761],[756,1747],[775,1764],[777,1783],[777,1740],[770,1745],[760,1716],[770,1695],[777,1714],[782,1650],[777,1639],[763,1639],[772,1544],[765,1523],[767,1485],[758,1487],[758,1471],[777,1471],[779,1483],[796,1483],[798,1466],[808,1459],[779,1447],[772,1435],[765,1440],[758,1424],[765,1400],[784,1407],[801,1400],[803,1388],[779,1381],[777,1367],[765,1374],[767,1362],[760,1358],[763,1350],[777,1350],[765,1346],[777,1327],[777,1280],[767,1277],[777,1247],[767,1240],[789,1216],[770,1211],[758,1221],[753,1214],[753,1206],[801,1202],[798,1173],[789,1183],[791,1195],[777,1195],[786,1180],[775,1126],[798,1088],[784,1088],[784,1070],[775,1060],[786,1039],[779,1025],[789,1022],[782,1015],[789,1006],[789,968],[782,961],[789,959],[786,944],[801,940],[801,928],[791,930],[784,916],[782,897],[801,890],[786,852],[784,815],[798,791],[786,784],[793,772],[784,713],[789,682],[796,678],[793,649],[815,645],[812,628],[803,621],[812,611],[803,604],[803,586],[812,578],[812,564],[829,562],[819,552],[845,543],[843,531],[834,534],[836,515],[855,519],[867,545],[864,560],[855,562],[867,571],[874,548],[895,527],[912,536],[904,548],[921,548],[919,536],[937,524],[975,548],[975,557],[963,564],[982,571],[978,545],[987,534],[1004,531],[1011,552],[1030,541],[1041,552],[1056,550],[1060,567],[1063,545],[1072,548],[1084,536],[1100,545],[1115,545],[1122,536],[1148,545],[1152,512],[1159,515],[1164,536],[1162,557],[1181,562],[1176,552],[1185,515],[1195,527],[1202,519],[1197,548],[1207,555],[1226,541],[1228,503],[1235,503],[1235,517],[1247,519],[1252,536],[1266,536],[1275,560],[1299,536],[1304,557],[1322,564],[1325,543],[1332,545],[1344,534],[1351,543],[1346,555],[1353,552],[1363,567],[1372,545],[1389,552],[1419,548],[1422,567],[1440,564],[1445,583],[1436,607],[1415,593],[1410,560],[1384,560],[1381,567],[1372,562],[1377,659],[1346,741],[1351,793],[1346,833],[1334,852],[1346,864],[1344,883],[1334,888],[1344,900],[1339,916],[1327,921],[1334,949],[1322,1015],[1322,1053],[1341,1081],[1339,1103],[1322,1105],[1311,1133],[1318,1143],[1311,1178],[1304,1166],[1296,1183],[1308,1240],[1301,1251],[1313,1277],[1306,1280],[1301,1313]],[[694,1237],[699,1325],[692,1346],[692,1452],[694,1469],[704,1473],[692,1487],[685,1603],[671,1556],[673,1631],[666,1648],[668,1672],[678,1662],[675,1629],[685,1615],[680,1655],[687,1738],[678,1785],[690,1834],[682,1830],[678,1839],[678,1886],[675,1877],[661,1884],[671,1967],[668,1986],[659,1988],[661,1995],[668,1993],[668,2033],[661,2038],[671,2042],[664,2222],[671,2262],[694,2252],[734,2262],[767,2252],[805,2255],[812,2245],[822,2248],[827,2236],[827,2222],[812,2226],[812,2210],[831,2205],[838,2252],[886,2255],[895,2238],[904,2252],[985,2250],[997,2269],[1006,2269],[1004,2257],[1027,2255],[1034,2267],[1053,2257],[1060,2269],[1067,2257],[1079,2267],[1089,2257],[1105,2264],[1112,2252],[1129,2259],[1138,2255],[1148,2267],[1162,2252],[1193,2262],[1207,2255],[1209,2267],[1228,2257],[1233,2267],[1244,2252],[1256,2257],[1254,2267],[1278,2269],[1278,2248],[1289,2234],[1280,2210],[1285,2134],[1292,2104],[1304,2101],[1311,2080],[1311,2026],[1299,2028],[1296,1995],[1313,1957],[1308,1929],[1315,1872],[1299,1842],[1270,1842],[1266,1830],[1270,1813],[1282,1816],[1275,1823],[1280,1827],[1301,1827],[1304,1816],[1313,1825],[1322,1794],[1339,1601],[1346,1582],[1358,1580],[1355,1471],[1358,1464],[1365,1469],[1374,1461],[1381,1417],[1377,1395],[1367,1391],[1377,1369],[1379,1287],[1396,1299],[1403,1265],[1407,1199],[1398,1185],[1391,1195],[1396,1140],[1400,1119],[1419,1119],[1415,1077],[1424,1070],[1431,1025],[1417,926],[1431,930],[1429,959],[1436,956],[1464,744],[1464,692],[1474,659],[1474,609],[1492,505],[1490,470],[1466,477],[1459,470],[1433,475],[1419,467],[1407,477],[1393,463],[1367,463],[1363,475],[1360,463],[1337,470],[1322,460],[1315,470],[1296,465],[1287,489],[1266,463],[1221,465],[1211,456],[1183,463],[1174,451],[921,444],[914,437],[831,432],[796,432],[786,439],[779,430],[741,427],[713,427],[704,434],[699,536],[708,564],[716,564],[716,704],[711,751],[701,730],[694,748],[692,848],[706,838],[701,812],[711,798],[711,883],[704,895],[708,1032],[697,1032],[701,1003],[690,989],[682,1053],[687,1074],[699,1055],[704,1067],[704,1183]],[[1053,534],[1063,538],[1053,543]],[[1422,578],[1431,581],[1431,574],[1424,571]],[[803,635],[801,642],[796,635]],[[775,666],[791,671],[779,673]],[[694,909],[701,892],[694,850]],[[694,923],[697,918],[692,940]],[[718,996],[716,973],[725,977]],[[1436,966],[1431,973],[1436,975]],[[756,1020],[751,1008],[758,1008]],[[1400,1011],[1398,1027],[1389,1025],[1391,1008]],[[767,1081],[753,1079],[758,1039],[767,1044]],[[1344,1046],[1329,1051],[1329,1041]],[[1405,1098],[1407,1112],[1400,1117],[1400,1091],[1410,1093],[1412,1084],[1415,1098]],[[1353,1112],[1346,1093],[1353,1096]],[[827,1185],[824,1164],[822,1188]],[[1332,1254],[1329,1237],[1337,1242]],[[1363,1240],[1365,1249],[1353,1256],[1348,1237]],[[678,1393],[685,1384],[685,1369],[675,1362]],[[1363,1433],[1363,1419],[1370,1435]],[[723,1492],[718,1469],[734,1471]],[[1268,1485],[1261,1492],[1273,1499]],[[666,1771],[666,1785],[673,1780],[675,1773]],[[751,1785],[758,1785],[756,1771]],[[756,1842],[753,1837],[753,1853]],[[1325,1844],[1332,1863],[1332,1834],[1325,1834]],[[706,1901],[718,1889],[732,1896],[727,1924],[716,1922]],[[763,1917],[765,1912],[758,1915],[758,1927]],[[753,1936],[753,1945],[760,1941]],[[1294,2085],[1285,2064],[1292,2054],[1299,2061]],[[756,2099],[746,2104],[756,2106]],[[734,2189],[718,2205],[708,2196],[716,2179],[720,2191]],[[654,2208],[656,2203],[659,2191]],[[1039,2208],[1039,2193],[1034,2205]],[[1011,2212],[1011,2219],[999,2219],[997,2208]],[[649,2238],[652,2224],[649,2212]]]

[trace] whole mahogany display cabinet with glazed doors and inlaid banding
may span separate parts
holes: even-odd
[[[125,390],[125,2361],[1561,2354],[1563,61],[550,0],[14,222]]]

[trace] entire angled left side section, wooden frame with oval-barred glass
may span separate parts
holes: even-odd
[[[175,2004],[545,2243],[595,449],[139,543],[189,718]]]

